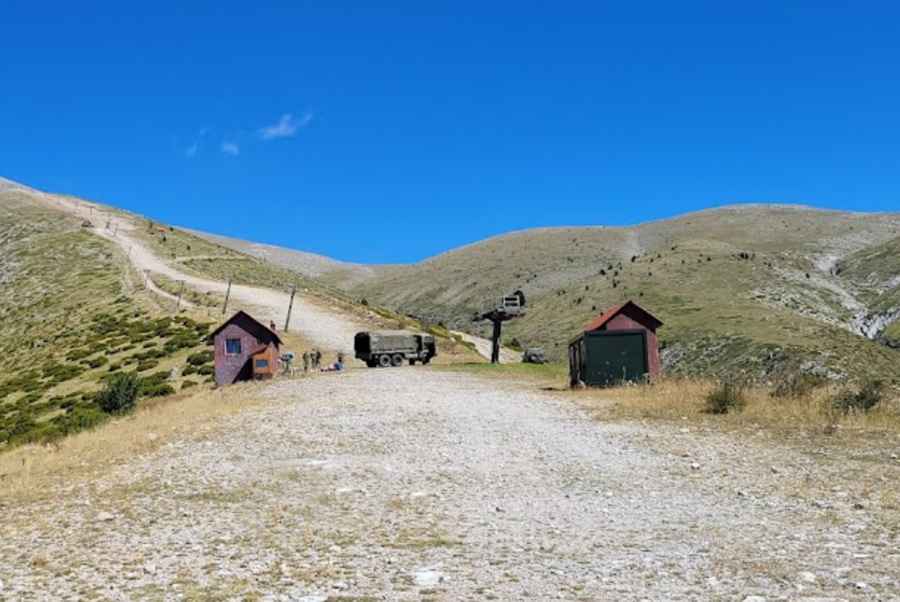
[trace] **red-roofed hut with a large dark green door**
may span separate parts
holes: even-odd
[[[662,322],[633,301],[609,308],[569,342],[572,386],[610,386],[658,376]]]

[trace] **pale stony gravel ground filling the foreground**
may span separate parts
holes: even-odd
[[[896,456],[597,422],[431,369],[263,391],[262,409],[3,508],[0,598],[900,595]]]

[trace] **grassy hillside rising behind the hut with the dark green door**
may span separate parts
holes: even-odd
[[[887,278],[898,228],[897,215],[740,206],[629,228],[517,232],[419,264],[378,268],[362,283],[357,273],[325,278],[399,311],[469,329],[485,302],[521,289],[529,313],[508,324],[507,340],[543,345],[556,358],[592,316],[634,299],[665,322],[670,371],[765,378],[796,365],[897,379],[900,355],[859,335],[860,320],[883,308],[870,305],[869,289],[839,262],[868,264],[874,259],[865,254],[873,252]],[[896,290],[895,283],[888,293]]]

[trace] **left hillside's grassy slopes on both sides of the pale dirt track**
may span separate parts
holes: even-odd
[[[48,442],[91,428],[109,415],[98,393],[115,375],[134,373],[144,400],[212,383],[206,336],[220,319],[223,297],[201,293],[152,273],[165,293],[147,288],[121,247],[92,231],[111,212],[139,227],[135,234],[180,270],[238,284],[287,290],[312,298],[362,323],[429,329],[442,338],[441,362],[477,361],[471,346],[439,327],[355,302],[295,272],[153,223],[92,204],[82,217],[60,210],[60,198],[0,179],[0,451]],[[233,307],[234,305],[232,305]],[[294,351],[310,345],[284,333]]]

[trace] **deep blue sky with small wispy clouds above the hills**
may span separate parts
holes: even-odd
[[[0,175],[364,262],[900,209],[896,4],[128,4],[4,3]]]

